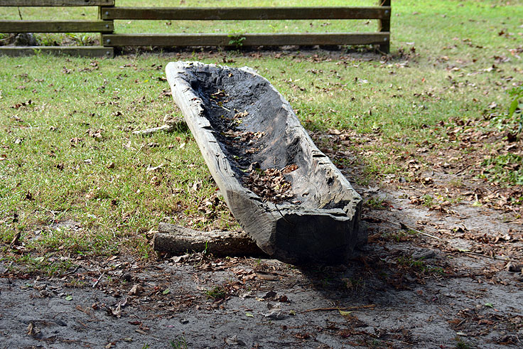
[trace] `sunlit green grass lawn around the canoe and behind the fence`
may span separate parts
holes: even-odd
[[[136,1],[117,3],[132,6]],[[187,0],[185,5],[220,6],[220,1]],[[153,257],[148,232],[160,221],[196,229],[236,226],[223,203],[208,210],[217,188],[183,124],[172,133],[131,134],[163,124],[166,115],[180,117],[163,70],[178,59],[257,69],[291,102],[320,148],[357,183],[419,183],[438,159],[453,154],[450,165],[465,164],[470,178],[521,193],[522,141],[507,141],[517,123],[503,115],[511,101],[508,91],[523,85],[522,5],[520,0],[393,1],[387,58],[365,50],[216,49],[96,60],[0,57],[0,259],[49,272],[85,255],[122,251],[148,259]],[[67,9],[50,18],[82,18],[92,10]],[[37,16],[36,11],[21,10],[24,18]],[[18,11],[2,11],[0,19],[6,18],[18,18]],[[118,22],[116,31],[347,30],[347,23],[332,22]],[[376,28],[375,22],[365,21],[350,26]],[[343,144],[332,141],[329,135],[338,132],[353,138]],[[418,168],[412,168],[411,160]],[[352,173],[353,166],[362,171]],[[507,198],[514,212],[523,200],[517,195]],[[13,250],[9,245],[18,232],[23,246]]]

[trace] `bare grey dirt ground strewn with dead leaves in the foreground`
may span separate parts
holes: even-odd
[[[521,222],[470,204],[429,210],[411,200],[422,187],[384,187],[356,186],[381,206],[365,208],[369,244],[345,265],[119,255],[60,277],[3,265],[0,346],[521,347]]]

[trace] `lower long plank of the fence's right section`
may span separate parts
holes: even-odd
[[[244,39],[243,39],[244,38]],[[389,33],[106,34],[105,46],[379,45]]]

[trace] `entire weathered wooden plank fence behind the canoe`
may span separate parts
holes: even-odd
[[[40,50],[77,55],[112,56],[124,46],[242,46],[261,45],[377,45],[390,48],[391,1],[379,0],[367,7],[118,7],[114,0],[0,0],[0,6],[98,6],[96,21],[0,21],[0,33],[100,33],[103,46],[0,46],[0,53],[21,55]],[[374,19],[372,33],[114,33],[114,20],[282,20],[282,19]],[[236,38],[238,36],[238,38]],[[232,40],[235,38],[235,40]]]

